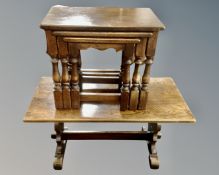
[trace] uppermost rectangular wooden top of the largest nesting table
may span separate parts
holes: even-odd
[[[40,25],[47,30],[159,31],[165,28],[150,8],[51,7]]]

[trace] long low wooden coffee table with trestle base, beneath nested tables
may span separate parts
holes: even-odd
[[[158,123],[194,123],[190,109],[171,78],[151,78],[150,93],[146,110],[120,111],[119,104],[101,104],[83,102],[80,109],[55,108],[53,98],[53,80],[42,77],[33,96],[24,122],[55,123],[57,149],[54,168],[62,169],[67,140],[142,140],[148,141],[150,167],[157,169],[159,161],[156,141],[160,138],[161,126]],[[141,131],[70,131],[67,122],[106,122],[148,123],[148,129]]]

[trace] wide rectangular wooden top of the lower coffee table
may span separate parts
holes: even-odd
[[[51,77],[42,77],[24,122],[156,122],[194,123],[173,79],[151,78],[146,110],[120,111],[119,104],[82,104],[79,110],[56,110]]]

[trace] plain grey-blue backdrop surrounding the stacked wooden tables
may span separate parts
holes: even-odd
[[[219,173],[219,1],[217,0],[7,0],[0,5],[0,174],[216,175]],[[153,76],[172,76],[197,123],[163,125],[161,167],[149,169],[143,142],[72,141],[64,170],[52,169],[52,124],[24,124],[40,76],[50,75],[39,23],[53,4],[151,7],[167,29],[160,34]],[[88,50],[91,68],[119,65],[119,54]],[[115,57],[114,59],[111,59]],[[141,124],[74,124],[74,129],[137,130]]]

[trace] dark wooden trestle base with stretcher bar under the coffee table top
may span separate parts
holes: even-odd
[[[149,123],[148,130],[143,127],[141,131],[69,131],[64,128],[64,123],[55,123],[56,134],[51,135],[57,143],[53,167],[56,170],[62,169],[68,140],[136,140],[148,142],[149,164],[152,169],[157,169],[159,160],[156,142],[160,139],[160,129],[159,124]]]

